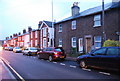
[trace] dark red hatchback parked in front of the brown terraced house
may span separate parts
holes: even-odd
[[[42,51],[39,51],[37,54],[39,59],[49,59],[49,61],[66,58],[66,54],[61,47],[47,47]]]

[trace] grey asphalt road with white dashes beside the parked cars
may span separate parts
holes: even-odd
[[[22,53],[1,51],[0,56],[24,79],[120,79],[119,75],[101,70],[82,69],[74,61],[49,62],[37,56],[25,56]]]

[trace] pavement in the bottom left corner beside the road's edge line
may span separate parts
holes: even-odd
[[[4,64],[4,62],[0,59],[0,81],[4,80],[15,80],[15,77],[10,72],[8,67]]]

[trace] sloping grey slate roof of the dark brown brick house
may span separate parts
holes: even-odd
[[[120,7],[120,2],[107,3],[107,4],[104,5],[104,10],[106,11],[108,9],[118,8],[118,7]],[[80,12],[78,15],[70,16],[70,17],[65,18],[65,19],[63,19],[61,21],[56,22],[55,24],[65,22],[65,21],[68,21],[68,20],[71,20],[71,19],[75,19],[75,18],[79,18],[79,17],[99,13],[99,12],[102,12],[102,5],[94,7],[94,8],[87,9],[87,10],[85,10],[83,12]]]

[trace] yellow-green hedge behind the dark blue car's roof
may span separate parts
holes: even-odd
[[[103,47],[118,47],[120,46],[120,41],[106,40],[103,44]]]

